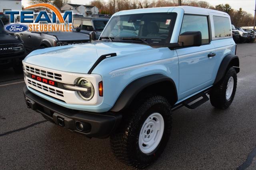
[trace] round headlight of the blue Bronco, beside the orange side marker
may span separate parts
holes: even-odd
[[[80,79],[78,79],[76,86],[87,89],[87,91],[77,91],[78,95],[82,99],[84,99],[84,100],[92,99],[92,97],[94,95],[94,88],[93,88],[92,83],[90,83],[90,81],[86,80],[85,78],[80,78]]]

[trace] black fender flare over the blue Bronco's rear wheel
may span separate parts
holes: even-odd
[[[236,73],[239,73],[240,68],[239,68],[239,58],[237,55],[234,54],[228,54],[226,55],[221,63],[220,63],[220,67],[218,69],[215,81],[214,81],[214,85],[217,84],[225,75],[227,69],[232,66],[235,68]]]

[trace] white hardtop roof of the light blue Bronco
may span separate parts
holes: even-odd
[[[141,14],[141,13],[153,13],[153,12],[172,12],[175,8],[181,8],[184,10],[184,14],[196,14],[196,15],[209,15],[209,13],[217,13],[228,15],[226,12],[211,10],[207,8],[199,8],[194,6],[170,6],[170,7],[158,7],[158,8],[142,8],[135,10],[124,10],[114,14],[115,15],[128,15],[128,14]]]

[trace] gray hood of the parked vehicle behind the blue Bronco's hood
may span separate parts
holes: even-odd
[[[89,35],[80,32],[48,32],[47,34],[56,37],[59,41],[90,40]]]

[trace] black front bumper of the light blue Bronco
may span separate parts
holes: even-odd
[[[107,138],[122,119],[122,115],[117,113],[89,113],[56,105],[34,95],[26,86],[23,92],[28,108],[41,113],[46,119],[58,125],[87,137]],[[79,130],[78,123],[82,123],[85,129]]]

